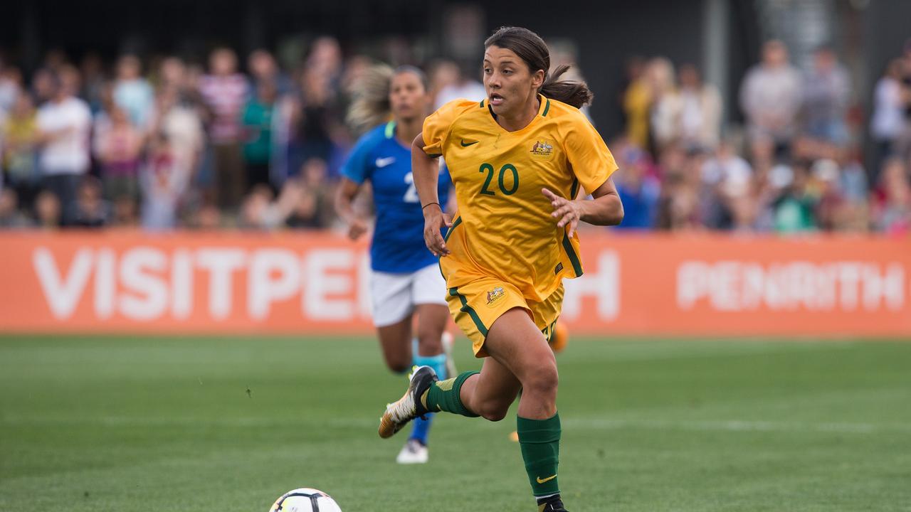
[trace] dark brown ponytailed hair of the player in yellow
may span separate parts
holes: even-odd
[[[540,92],[544,97],[562,101],[575,108],[581,108],[591,103],[594,96],[585,82],[560,80],[558,78],[566,73],[568,65],[558,66],[553,74],[549,74],[550,50],[540,36],[521,26],[501,26],[493,36],[487,37],[484,47],[499,46],[512,50],[519,58],[525,61],[532,73],[541,69],[544,71],[544,84]]]

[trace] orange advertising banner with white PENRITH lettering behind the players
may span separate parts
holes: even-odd
[[[367,247],[329,233],[0,233],[0,332],[370,333]],[[911,240],[582,237],[573,333],[911,338]]]

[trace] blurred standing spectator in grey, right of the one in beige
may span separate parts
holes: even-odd
[[[820,46],[813,56],[813,69],[804,77],[806,133],[833,144],[847,142],[844,112],[850,93],[848,73],[838,63],[834,50]]]

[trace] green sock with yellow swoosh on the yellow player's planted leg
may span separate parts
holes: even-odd
[[[517,416],[516,425],[532,494],[536,497],[558,494],[560,415],[553,415],[546,420],[529,420]]]

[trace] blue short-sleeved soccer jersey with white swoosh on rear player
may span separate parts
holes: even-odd
[[[436,263],[424,242],[424,213],[411,173],[411,148],[395,138],[395,123],[374,128],[357,141],[342,168],[357,184],[370,180],[374,189],[376,228],[370,245],[374,271],[410,273]],[[440,202],[449,197],[449,173],[442,169]]]

